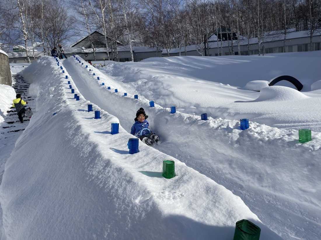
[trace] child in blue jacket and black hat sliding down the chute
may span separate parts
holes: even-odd
[[[135,123],[133,124],[130,133],[142,140],[143,143],[153,145],[153,143],[157,143],[160,138],[148,129],[149,124],[146,121],[147,117],[144,108],[139,108],[136,112],[136,118],[134,119]]]

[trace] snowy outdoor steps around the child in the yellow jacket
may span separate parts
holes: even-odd
[[[15,89],[16,94],[21,94],[21,97],[24,101],[30,102],[34,100],[32,97],[28,97],[26,95],[26,92],[29,88],[29,83],[26,82],[23,78],[23,76],[19,74],[13,74],[12,76],[12,87]],[[5,135],[8,133],[13,132],[20,132],[23,131],[26,126],[28,125],[28,121],[30,121],[29,118],[23,118],[23,123],[20,123],[18,119],[18,115],[16,113],[16,109],[11,106],[9,106],[10,110],[7,111],[7,115],[5,118],[5,125],[2,127],[1,134]],[[6,138],[6,137],[5,137]]]

